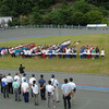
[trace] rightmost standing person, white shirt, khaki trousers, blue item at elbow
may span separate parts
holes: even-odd
[[[72,101],[73,101],[73,105],[75,105],[75,93],[76,93],[76,85],[75,83],[73,83],[73,78],[70,77],[70,82],[69,84],[71,85],[71,96],[72,96]]]

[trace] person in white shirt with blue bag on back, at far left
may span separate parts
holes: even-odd
[[[7,81],[7,77],[5,75],[3,75],[3,78],[1,80],[1,84],[2,84],[2,87],[3,87],[3,97],[4,98],[9,98],[9,92],[8,92],[8,81]]]

